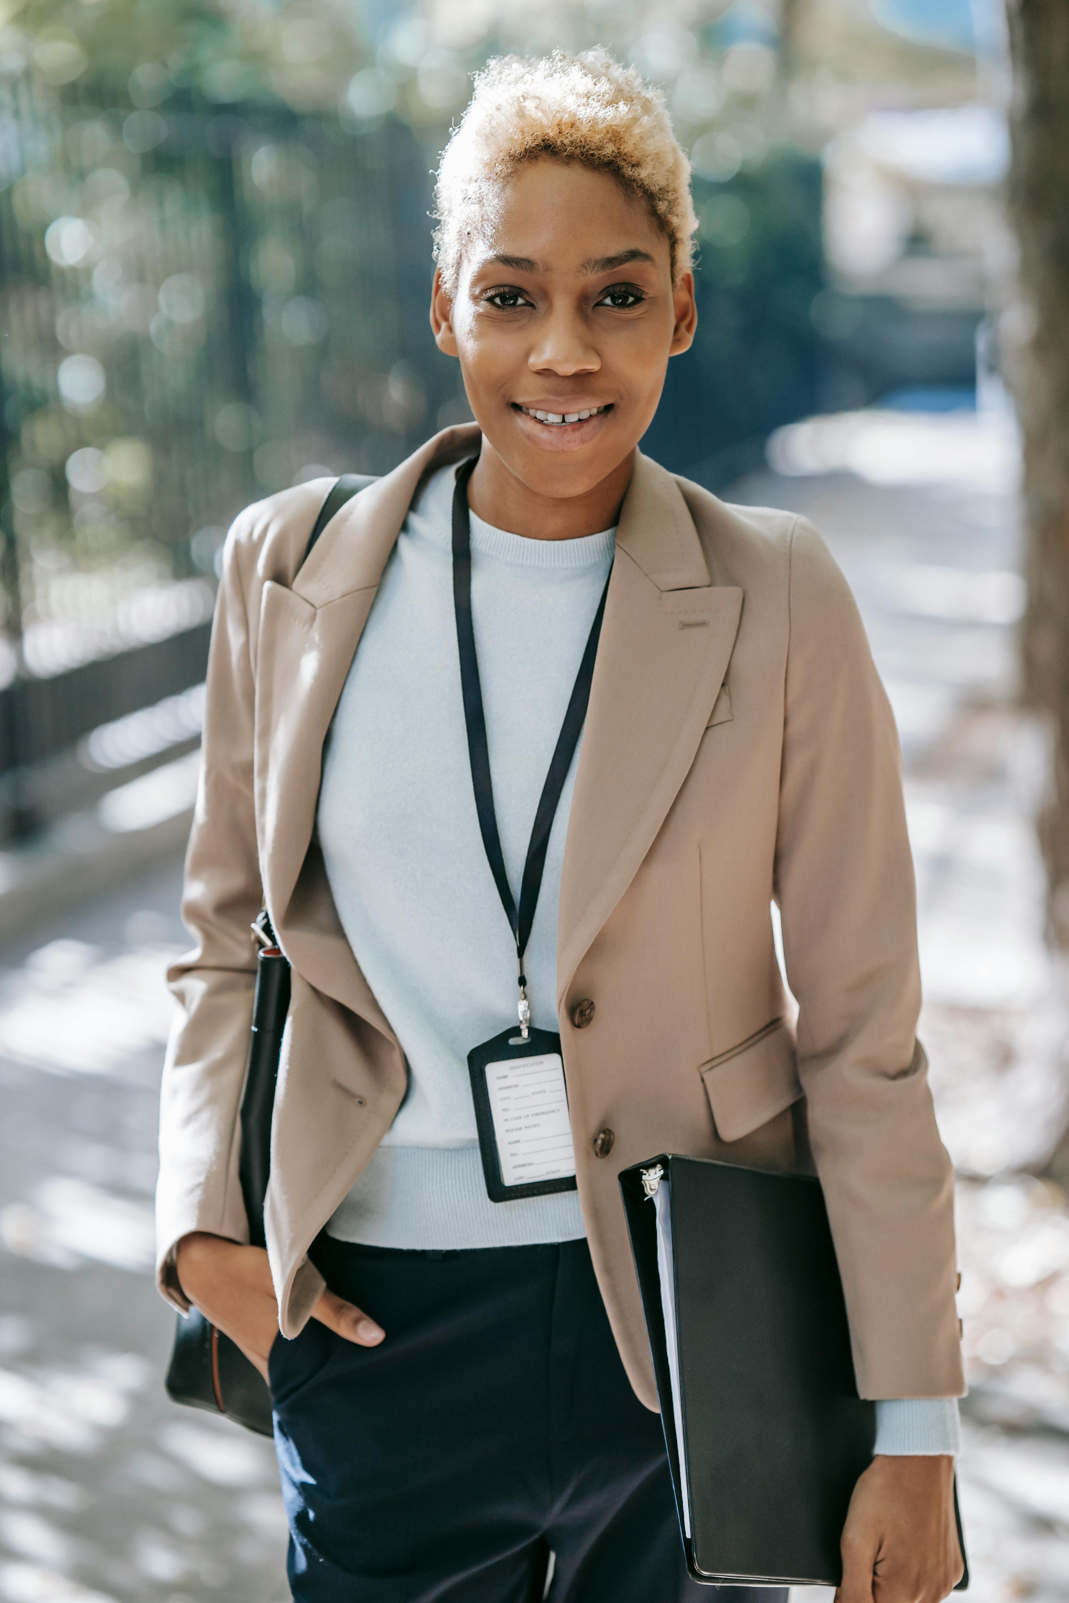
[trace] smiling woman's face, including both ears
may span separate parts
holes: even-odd
[[[646,207],[606,173],[556,159],[502,186],[455,298],[436,276],[431,301],[482,434],[553,499],[585,494],[630,457],[696,322],[694,279],[673,290],[668,240]]]

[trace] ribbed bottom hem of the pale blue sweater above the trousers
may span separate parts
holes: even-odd
[[[580,1241],[575,1191],[490,1202],[478,1146],[380,1146],[327,1234],[364,1247],[449,1252]]]

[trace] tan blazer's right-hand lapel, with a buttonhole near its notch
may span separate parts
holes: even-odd
[[[558,997],[688,776],[740,616],[742,590],[710,582],[676,481],[636,454],[564,846]]]

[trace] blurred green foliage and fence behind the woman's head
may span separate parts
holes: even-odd
[[[38,625],[69,625],[63,649],[48,636],[53,659],[91,654],[138,587],[212,579],[242,502],[313,473],[386,471],[465,415],[426,329],[431,170],[470,74],[502,50],[607,43],[664,83],[692,154],[700,327],[670,367],[647,449],[694,470],[811,407],[821,170],[792,141],[779,11],[8,5],[11,627],[21,617],[40,644]]]

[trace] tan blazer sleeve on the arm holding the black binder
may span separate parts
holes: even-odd
[[[805,519],[790,545],[776,898],[859,1391],[960,1396],[954,1172],[915,1036],[898,731],[849,587]]]

